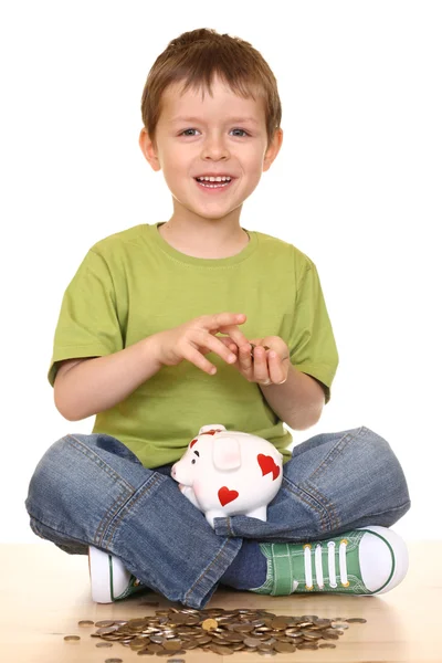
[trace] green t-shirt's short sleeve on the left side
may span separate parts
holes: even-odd
[[[48,379],[53,387],[57,361],[122,349],[112,274],[105,260],[91,250],[64,293]]]

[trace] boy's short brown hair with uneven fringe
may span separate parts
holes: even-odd
[[[181,94],[189,87],[194,91],[202,88],[204,94],[206,87],[212,96],[211,83],[215,74],[239,96],[256,101],[253,90],[264,99],[269,147],[282,117],[277,83],[272,70],[249,42],[207,28],[183,32],[173,39],[149,71],[143,91],[141,117],[155,147],[165,90],[183,81]]]

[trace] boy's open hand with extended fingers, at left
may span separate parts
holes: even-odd
[[[238,325],[245,323],[245,319],[246,316],[243,313],[201,315],[179,327],[159,332],[155,335],[157,359],[164,366],[177,366],[187,359],[197,368],[213,375],[217,372],[217,368],[208,359],[204,359],[203,355],[213,351],[228,364],[236,360],[236,355],[232,354],[222,343],[223,338],[214,335],[219,332],[230,334],[227,338],[230,338],[235,347],[236,344],[243,346],[248,339]]]

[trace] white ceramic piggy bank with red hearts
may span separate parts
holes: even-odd
[[[200,429],[170,474],[212,527],[213,518],[239,514],[266,520],[283,455],[263,438],[214,423]]]

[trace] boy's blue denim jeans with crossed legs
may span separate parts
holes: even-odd
[[[366,525],[389,527],[410,508],[398,459],[365,427],[295,446],[267,522],[230,516],[217,518],[213,530],[170,469],[144,467],[110,435],[65,435],[31,477],[25,501],[31,528],[71,555],[87,555],[90,545],[109,551],[143,585],[203,608],[243,538],[320,540]]]

